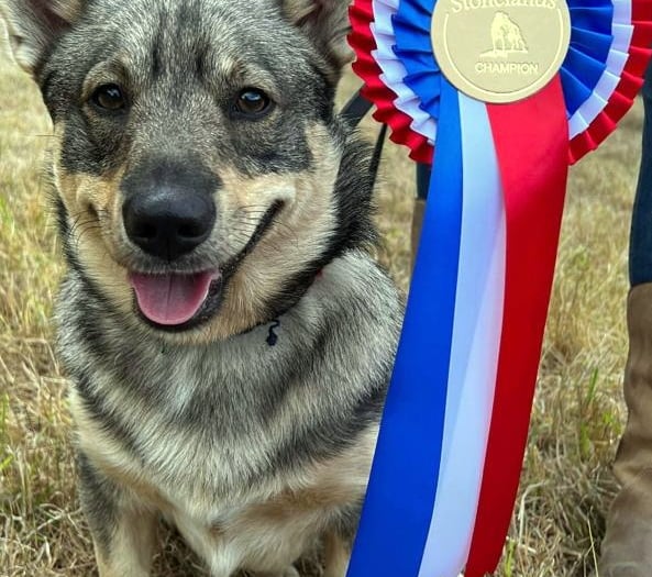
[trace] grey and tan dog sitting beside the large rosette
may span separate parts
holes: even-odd
[[[55,307],[101,577],[343,577],[401,323],[342,0],[0,0],[53,120]]]

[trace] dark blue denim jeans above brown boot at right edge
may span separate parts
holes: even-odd
[[[652,63],[643,86],[643,147],[634,199],[629,245],[629,280],[632,287],[652,282]]]

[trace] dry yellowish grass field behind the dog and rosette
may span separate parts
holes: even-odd
[[[345,85],[343,98],[355,80]],[[578,577],[594,567],[625,419],[627,238],[641,114],[639,106],[571,173],[529,450],[497,573],[502,577]],[[366,127],[376,129],[371,121]],[[51,131],[35,88],[0,45],[1,577],[95,575],[75,491],[67,384],[51,345],[63,270],[42,177]],[[386,147],[383,175],[380,258],[406,288],[413,167],[402,148]],[[174,535],[163,537],[156,575],[203,575]]]

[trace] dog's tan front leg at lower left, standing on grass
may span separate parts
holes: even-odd
[[[148,577],[156,513],[78,453],[80,498],[100,577]]]

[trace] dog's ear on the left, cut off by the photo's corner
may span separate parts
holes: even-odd
[[[86,0],[0,0],[15,62],[35,76],[43,57],[68,30]]]

